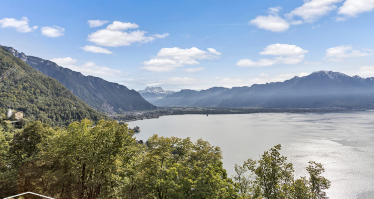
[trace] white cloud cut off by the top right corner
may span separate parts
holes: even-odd
[[[357,16],[363,12],[370,12],[374,9],[373,0],[346,0],[341,7],[339,7],[339,14],[348,16]]]

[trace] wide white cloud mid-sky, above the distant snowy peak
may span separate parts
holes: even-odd
[[[203,51],[195,47],[186,49],[178,47],[162,48],[155,58],[143,62],[143,67],[141,68],[156,72],[172,71],[184,65],[199,64],[196,60],[219,58],[220,54],[220,52],[217,52],[213,48],[208,48],[208,51]]]

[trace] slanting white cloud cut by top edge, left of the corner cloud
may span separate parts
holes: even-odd
[[[293,9],[286,17],[291,19],[300,16],[305,22],[312,23],[320,17],[327,15],[330,11],[337,9],[335,3],[343,0],[305,0],[305,3]]]

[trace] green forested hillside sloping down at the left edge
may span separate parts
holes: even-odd
[[[109,119],[74,96],[57,80],[49,78],[0,48],[0,112],[23,111],[29,120],[65,126],[84,118]]]

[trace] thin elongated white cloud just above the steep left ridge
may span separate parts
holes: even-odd
[[[119,77],[123,75],[122,71],[111,69],[105,66],[98,66],[94,62],[86,62],[83,65],[75,65],[76,59],[71,57],[56,58],[50,61],[56,63],[59,66],[71,69],[76,72],[80,72],[83,75],[91,75],[95,77]]]

